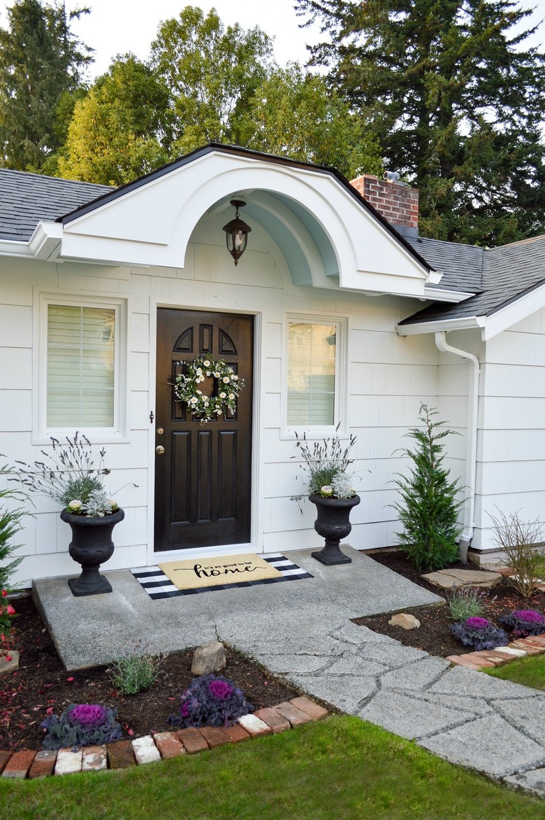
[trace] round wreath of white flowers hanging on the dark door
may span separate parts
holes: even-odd
[[[205,376],[212,376],[216,380],[218,392],[215,396],[207,396],[198,389]],[[176,376],[174,396],[178,402],[187,402],[191,414],[200,416],[200,423],[206,424],[222,413],[225,415],[227,409],[234,413],[236,399],[243,387],[244,379],[239,379],[230,365],[197,356],[192,362],[187,362],[185,375]]]

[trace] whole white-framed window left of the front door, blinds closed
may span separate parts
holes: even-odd
[[[43,430],[119,431],[122,300],[42,300]]]

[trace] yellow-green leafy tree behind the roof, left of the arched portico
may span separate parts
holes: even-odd
[[[132,54],[117,57],[74,107],[56,171],[123,185],[169,160],[168,90]]]

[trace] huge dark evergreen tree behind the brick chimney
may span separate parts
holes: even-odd
[[[545,60],[511,0],[295,0],[312,63],[418,185],[421,232],[501,244],[545,232]]]

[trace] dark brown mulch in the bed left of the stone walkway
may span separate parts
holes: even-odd
[[[66,672],[46,626],[30,598],[14,602],[16,626],[10,643],[20,651],[18,672],[0,677],[0,749],[40,749],[47,714],[69,704],[101,704],[118,710],[124,737],[169,731],[169,715],[178,712],[180,695],[193,680],[193,652],[166,656],[159,678],[138,695],[118,695],[106,667]],[[273,706],[300,693],[262,667],[226,647],[227,667],[218,672],[240,686],[254,708]]]

